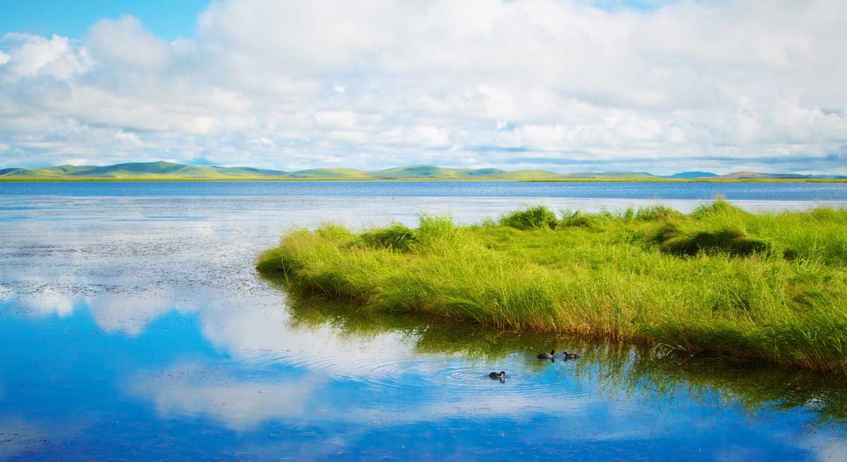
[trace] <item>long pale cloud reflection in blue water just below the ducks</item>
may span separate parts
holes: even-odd
[[[468,394],[450,383],[380,391],[368,382],[353,383],[351,389],[347,381],[328,380],[314,372],[293,373],[296,371],[290,369],[265,373],[261,380],[245,379],[239,378],[244,372],[241,365],[233,367],[235,370],[215,370],[192,363],[174,365],[133,376],[125,389],[151,402],[160,415],[210,417],[237,431],[252,430],[268,420],[290,425],[398,426],[456,417],[522,419],[539,413],[576,419],[584,417],[586,409],[594,404],[578,397],[563,398],[562,393],[551,393],[539,400],[520,393],[504,395],[501,390],[489,388],[486,392],[474,387],[477,392]],[[485,384],[481,375],[479,381]],[[355,389],[356,385],[359,389]]]

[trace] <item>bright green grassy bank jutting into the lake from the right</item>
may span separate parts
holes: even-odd
[[[363,309],[847,372],[847,211],[523,210],[293,231],[257,268]]]

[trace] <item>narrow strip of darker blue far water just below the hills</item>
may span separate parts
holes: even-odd
[[[661,183],[521,181],[196,181],[0,183],[0,195],[333,196],[847,200],[847,183]]]

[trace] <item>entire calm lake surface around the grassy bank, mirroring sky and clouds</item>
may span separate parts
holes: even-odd
[[[252,270],[285,229],[326,220],[690,210],[715,193],[746,209],[847,204],[831,184],[494,183],[0,184],[0,459],[847,459],[839,383],[368,318]],[[534,359],[550,348],[582,358]]]

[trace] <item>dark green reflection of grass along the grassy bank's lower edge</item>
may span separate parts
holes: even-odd
[[[653,400],[661,396],[668,401],[683,397],[704,404],[717,400],[722,405],[738,404],[751,414],[803,409],[814,413],[821,423],[847,422],[847,386],[839,377],[725,357],[576,337],[502,332],[485,326],[455,326],[426,317],[365,313],[355,306],[319,298],[295,298],[289,307],[292,326],[298,328],[335,326],[340,335],[360,339],[385,331],[403,332],[406,338],[413,339],[418,353],[449,354],[482,369],[517,358],[523,368],[518,374],[531,374],[548,367],[547,360],[533,360],[536,353],[547,348],[567,349],[579,351],[581,357],[556,359],[554,363],[564,363],[562,367],[568,368],[571,377],[590,380],[601,392],[625,392],[630,397],[642,394]],[[510,373],[509,378],[515,375]]]

